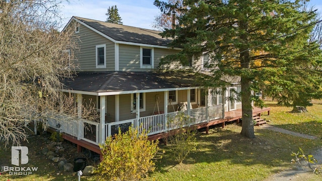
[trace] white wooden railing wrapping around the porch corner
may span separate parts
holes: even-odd
[[[207,122],[207,120],[216,120],[223,117],[223,105],[215,105],[207,107],[191,109],[189,111],[177,111],[168,114],[159,114],[153,116],[146,116],[136,119],[118,121],[105,124],[105,137],[118,133],[119,128],[121,132],[126,132],[130,126],[138,128],[139,132],[146,131],[147,135],[167,132],[182,127],[192,126],[199,123]],[[60,132],[67,133],[72,136],[79,136],[78,138],[99,144],[100,123],[83,120],[83,121],[58,121],[54,118],[48,118],[50,127],[60,130]],[[78,125],[81,124],[81,125]],[[77,129],[77,125],[81,129]],[[59,128],[58,128],[59,127]],[[81,133],[78,133],[78,130]]]

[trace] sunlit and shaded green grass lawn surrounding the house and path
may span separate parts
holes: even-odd
[[[321,105],[308,108],[308,113],[288,113],[288,109],[270,105],[271,115],[265,116],[270,124],[314,136],[321,136]],[[289,110],[290,111],[290,110]],[[296,120],[296,121],[295,121]],[[302,128],[304,127],[304,128]],[[321,146],[321,140],[308,140],[271,130],[255,127],[256,138],[240,136],[241,127],[227,125],[224,129],[213,127],[209,134],[199,131],[197,149],[177,164],[168,146],[162,159],[156,160],[156,169],[146,180],[264,180],[270,175],[295,167],[291,164],[291,152],[301,147],[306,154]],[[10,180],[76,180],[74,173],[58,171],[55,165],[38,154],[42,145],[30,142],[29,156],[39,171],[31,176],[12,177],[6,173],[0,175],[0,181]],[[35,146],[31,146],[35,145]],[[10,150],[0,149],[0,165],[3,159],[11,160]],[[97,180],[94,176],[82,176],[81,180]],[[322,180],[312,173],[309,180]]]

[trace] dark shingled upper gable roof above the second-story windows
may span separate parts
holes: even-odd
[[[100,31],[101,33],[111,37],[116,41],[124,41],[131,43],[142,43],[149,45],[168,46],[171,42],[169,38],[162,38],[159,31],[136,28],[113,23],[106,23],[97,20],[74,17],[86,25]]]

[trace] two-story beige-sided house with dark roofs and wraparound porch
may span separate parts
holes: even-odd
[[[159,139],[181,126],[202,128],[238,119],[224,119],[224,112],[241,109],[240,102],[225,99],[240,91],[238,82],[216,94],[198,84],[193,73],[156,71],[162,57],[180,51],[168,47],[171,40],[160,32],[79,17],[70,19],[65,28],[70,27],[79,45],[74,53],[80,70],[65,80],[63,92],[72,93],[78,105],[94,102],[100,120],[61,122],[57,128],[57,121],[50,119],[49,125],[64,132],[64,138],[79,145],[79,150],[85,147],[100,153],[99,143],[131,125]],[[190,65],[202,65],[208,59],[204,55]],[[184,125],[176,123],[180,113],[189,117]]]

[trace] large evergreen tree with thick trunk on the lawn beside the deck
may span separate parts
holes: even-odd
[[[164,13],[184,12],[176,29],[163,33],[174,38],[170,46],[183,50],[162,63],[185,63],[187,55],[198,58],[208,53],[212,77],[203,78],[206,86],[226,87],[228,77],[240,77],[241,135],[254,138],[252,102],[265,105],[252,93],[265,91],[292,101],[292,93],[320,85],[321,51],[316,42],[308,41],[316,14],[301,10],[305,2],[187,0],[183,6],[188,8],[181,8],[155,0]]]

